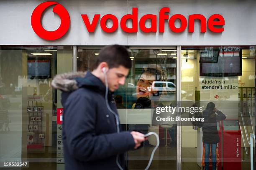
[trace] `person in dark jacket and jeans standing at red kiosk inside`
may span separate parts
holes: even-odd
[[[217,113],[217,114],[215,114]],[[200,122],[198,127],[202,127],[203,142],[205,146],[205,170],[209,170],[209,157],[211,149],[212,170],[216,170],[216,147],[220,141],[217,123],[226,118],[225,114],[215,108],[215,104],[209,102],[206,109],[199,117],[204,117],[204,122]]]

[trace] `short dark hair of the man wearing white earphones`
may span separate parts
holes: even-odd
[[[124,46],[111,45],[106,46],[100,50],[100,54],[97,56],[96,66],[100,63],[108,63],[109,69],[124,66],[127,69],[131,69],[131,58],[129,57],[128,51]]]

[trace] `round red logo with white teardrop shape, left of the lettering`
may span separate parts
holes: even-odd
[[[42,13],[44,12],[44,10],[46,10],[46,8],[50,7],[51,5],[55,5],[53,8],[53,12],[58,14],[61,19],[61,24],[59,28],[54,31],[45,30],[41,23]],[[33,13],[31,15],[31,26],[33,30],[39,37],[45,40],[56,40],[61,38],[69,30],[69,25],[69,13],[64,8],[64,6],[56,2],[49,1],[41,3],[33,10]]]

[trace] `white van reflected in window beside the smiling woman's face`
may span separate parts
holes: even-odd
[[[159,94],[176,94],[176,85],[169,81],[154,81],[152,91],[156,91],[153,94],[154,96],[159,96]],[[184,96],[187,92],[182,90],[181,94]]]

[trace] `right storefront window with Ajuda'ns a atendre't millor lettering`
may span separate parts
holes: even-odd
[[[214,161],[218,169],[249,169],[254,147],[249,140],[255,132],[255,46],[189,46],[182,47],[181,54],[181,87],[187,91],[182,104],[209,110],[207,104],[212,102],[226,117],[215,119],[217,127],[211,134],[205,125],[182,122],[182,169],[207,166],[208,143],[216,144],[211,151],[216,161],[210,156],[210,167]],[[220,118],[219,112],[213,113]]]

